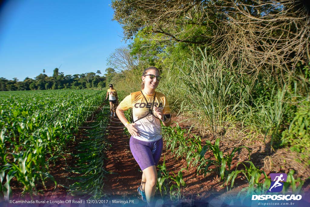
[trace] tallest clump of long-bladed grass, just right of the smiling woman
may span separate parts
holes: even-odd
[[[246,89],[242,88],[237,74],[200,52],[201,61],[193,57],[190,65],[179,67],[178,78],[186,86],[183,90],[191,101],[189,105],[181,105],[181,110],[191,111],[202,131],[208,130],[213,136],[223,135]]]

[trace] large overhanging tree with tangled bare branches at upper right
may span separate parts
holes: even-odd
[[[253,79],[281,82],[310,59],[310,17],[300,1],[115,0],[112,8],[125,39],[143,31],[158,43],[195,44]]]

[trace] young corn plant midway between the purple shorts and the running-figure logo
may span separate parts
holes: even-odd
[[[224,179],[224,177],[228,176],[228,173],[230,172],[230,168],[231,168],[231,163],[232,163],[232,158],[234,157],[235,153],[238,152],[238,154],[240,153],[242,148],[245,148],[248,150],[249,154],[250,154],[250,149],[246,146],[240,146],[240,147],[235,147],[233,148],[232,152],[227,155],[223,154],[223,151],[220,151],[219,149],[219,141],[220,139],[217,138],[215,140],[215,144],[212,145],[211,142],[209,140],[206,141],[206,145],[202,147],[202,150],[200,151],[200,160],[201,163],[199,164],[199,166],[197,167],[197,174],[199,172],[199,170],[201,168],[204,168],[204,175],[206,176],[207,173],[211,173],[212,171],[214,171],[215,173],[220,175],[221,180]],[[211,151],[213,156],[214,156],[214,160],[209,160],[209,159],[204,159],[204,155],[206,154],[207,151]],[[215,168],[209,169],[210,166],[214,165]],[[228,167],[228,170],[226,169],[226,167]]]

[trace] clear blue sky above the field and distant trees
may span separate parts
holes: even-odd
[[[108,56],[122,41],[105,0],[10,0],[0,10],[0,77],[42,73],[105,73]]]

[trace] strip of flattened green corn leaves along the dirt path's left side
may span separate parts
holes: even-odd
[[[74,155],[77,159],[76,167],[71,171],[80,174],[78,177],[70,178],[76,180],[69,186],[69,192],[73,196],[92,196],[93,199],[99,199],[103,196],[102,187],[104,178],[108,172],[104,169],[105,152],[111,144],[105,138],[106,133],[102,127],[108,124],[107,114],[98,117],[104,123],[101,127],[99,121],[90,124],[89,137],[81,140],[78,145],[79,153]]]

